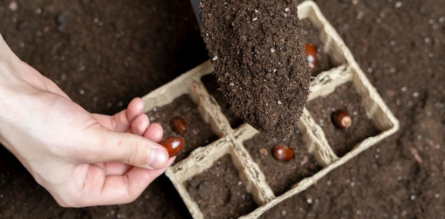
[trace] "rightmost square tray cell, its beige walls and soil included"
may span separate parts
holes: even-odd
[[[345,110],[351,127],[335,127],[333,112]],[[397,131],[399,123],[358,64],[341,65],[317,76],[303,116],[316,134],[325,164],[353,151],[345,161]]]

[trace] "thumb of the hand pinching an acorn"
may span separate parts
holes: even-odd
[[[102,129],[102,132],[97,134],[100,137],[98,146],[92,147],[100,149],[93,152],[99,155],[96,158],[100,161],[90,161],[92,163],[120,161],[144,169],[162,169],[168,163],[168,152],[161,144],[136,134],[107,129]]]

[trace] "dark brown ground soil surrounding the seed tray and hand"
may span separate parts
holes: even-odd
[[[445,218],[445,0],[316,3],[400,131],[264,218]],[[75,102],[104,114],[208,59],[186,0],[0,0],[0,33]],[[190,217],[166,176],[134,203],[61,208],[0,150],[0,218]]]

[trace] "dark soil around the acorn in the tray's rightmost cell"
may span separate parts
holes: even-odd
[[[368,137],[380,134],[374,122],[368,119],[361,105],[361,97],[352,82],[340,85],[326,97],[318,97],[306,105],[315,122],[323,129],[329,145],[337,156],[343,156]],[[352,124],[339,129],[332,121],[337,110],[348,112]]]

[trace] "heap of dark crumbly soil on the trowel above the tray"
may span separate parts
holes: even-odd
[[[259,132],[286,139],[309,95],[297,3],[203,0],[203,36],[232,111]]]

